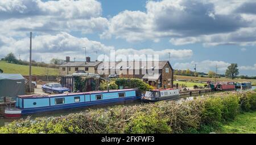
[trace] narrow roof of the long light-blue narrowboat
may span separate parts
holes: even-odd
[[[131,91],[136,89],[122,89],[122,90],[104,90],[104,91],[91,91],[91,92],[82,92],[82,93],[63,93],[63,94],[49,94],[49,95],[22,95],[18,96],[19,98],[43,98],[43,97],[61,97],[61,96],[75,96],[75,95],[86,95],[86,94],[101,94],[101,93],[112,93],[112,92],[125,92],[125,91]]]

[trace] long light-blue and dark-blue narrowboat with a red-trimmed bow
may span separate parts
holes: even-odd
[[[24,114],[136,100],[141,100],[141,92],[137,89],[17,96],[15,108],[6,108],[5,117],[21,117]]]

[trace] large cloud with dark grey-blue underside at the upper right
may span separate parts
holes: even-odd
[[[146,11],[125,10],[113,16],[101,38],[122,38],[128,42],[148,39],[159,42],[161,38],[170,38],[174,45],[254,45],[256,15],[250,9],[254,3],[250,0],[148,1]],[[241,7],[252,12],[242,12]]]

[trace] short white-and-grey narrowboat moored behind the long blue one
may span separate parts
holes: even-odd
[[[146,91],[142,97],[142,102],[155,102],[161,100],[171,100],[179,98],[179,89],[155,89]]]

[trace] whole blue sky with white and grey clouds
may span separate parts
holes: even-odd
[[[159,55],[174,69],[256,76],[256,1],[251,0],[5,0],[0,1],[0,58],[13,52],[48,63],[52,58],[96,60],[111,50]]]

